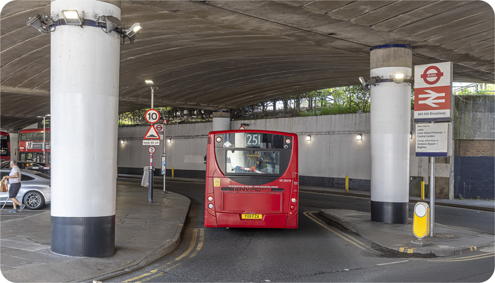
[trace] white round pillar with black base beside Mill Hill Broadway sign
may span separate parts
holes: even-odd
[[[396,73],[412,74],[412,47],[371,48],[371,221],[408,222],[411,86],[395,83]]]

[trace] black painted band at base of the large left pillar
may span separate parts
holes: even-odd
[[[51,216],[51,251],[70,256],[113,256],[115,253],[115,215]]]

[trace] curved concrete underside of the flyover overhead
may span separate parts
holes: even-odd
[[[452,61],[454,81],[495,83],[486,0],[122,0],[121,8],[123,25],[143,26],[121,46],[121,113],[149,107],[145,79],[159,87],[155,106],[202,109],[356,85],[369,77],[369,48],[384,44],[412,45],[414,65]],[[50,112],[50,36],[26,25],[49,11],[50,0],[1,7],[0,128]]]

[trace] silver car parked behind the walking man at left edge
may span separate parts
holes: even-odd
[[[0,180],[9,173],[10,169],[0,169]],[[16,198],[29,209],[40,209],[50,203],[50,176],[33,170],[21,170],[21,189]],[[5,201],[12,203],[8,192],[0,192],[0,205],[3,206]]]

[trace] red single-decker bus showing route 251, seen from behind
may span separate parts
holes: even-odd
[[[208,134],[204,227],[297,228],[297,135]]]

